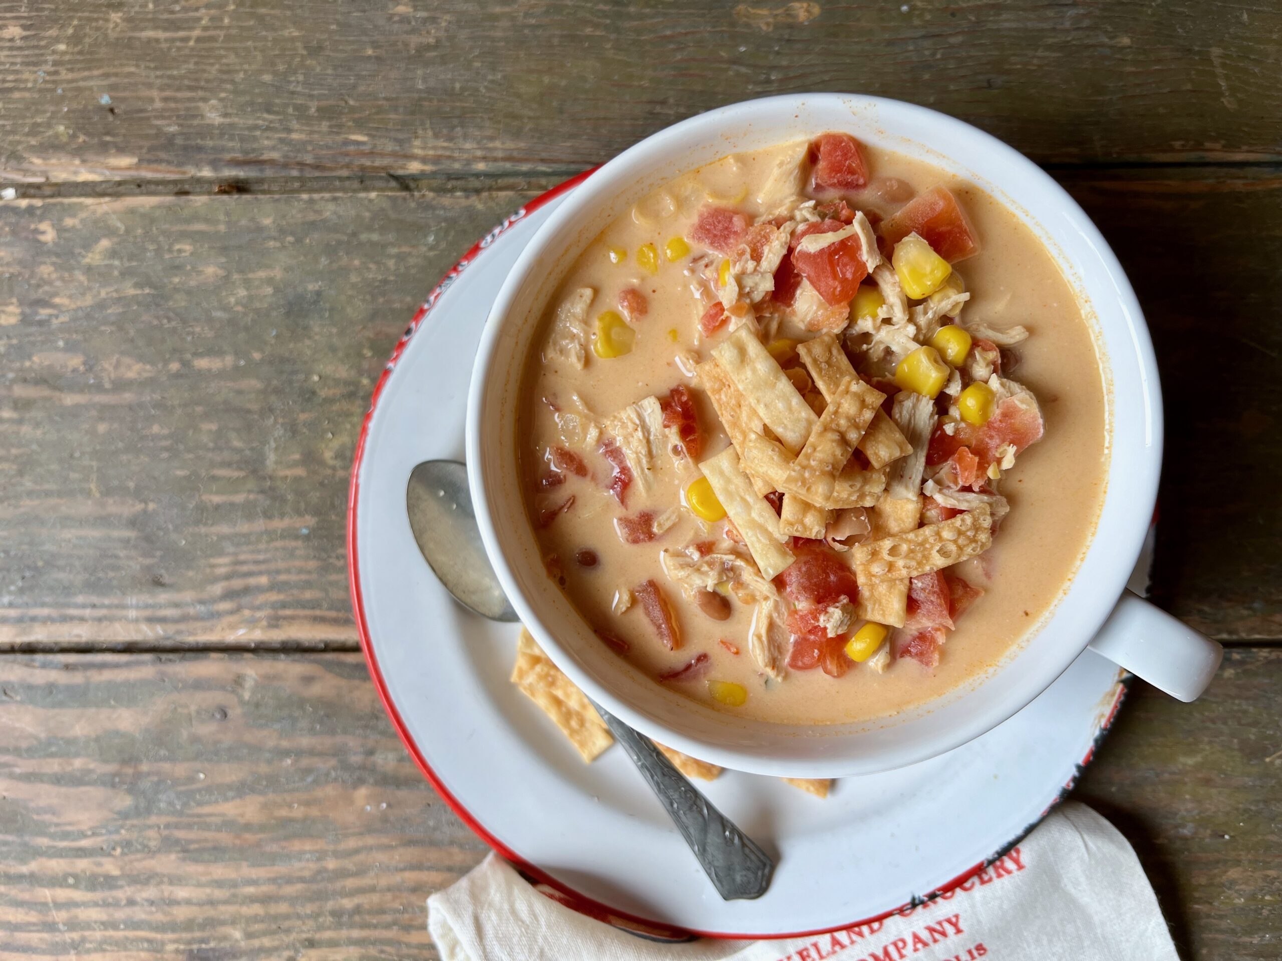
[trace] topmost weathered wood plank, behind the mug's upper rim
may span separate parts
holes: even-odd
[[[1040,161],[1282,155],[1245,0],[0,5],[0,178],[582,167],[786,91],[935,106]]]

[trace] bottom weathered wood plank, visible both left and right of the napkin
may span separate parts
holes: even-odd
[[[423,899],[483,856],[358,655],[0,670],[3,951],[424,957]],[[1240,650],[1196,705],[1138,689],[1078,792],[1137,847],[1190,961],[1282,938],[1279,683],[1282,651]]]

